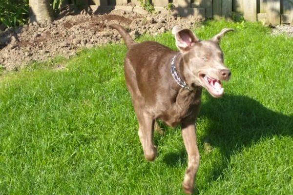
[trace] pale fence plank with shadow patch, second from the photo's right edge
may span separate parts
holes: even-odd
[[[281,22],[281,2],[280,0],[267,0],[267,17],[271,24]]]

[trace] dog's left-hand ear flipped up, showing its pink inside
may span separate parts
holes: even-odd
[[[176,46],[182,51],[187,51],[191,48],[192,43],[198,42],[198,38],[189,29],[181,29],[178,26],[174,26],[172,34],[176,39]]]

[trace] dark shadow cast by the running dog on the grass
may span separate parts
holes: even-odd
[[[274,112],[258,101],[245,97],[224,95],[223,98],[211,98],[202,104],[199,119],[208,118],[207,129],[202,129],[204,135],[198,139],[199,147],[203,148],[208,139],[212,148],[219,148],[224,159],[258,142],[262,137],[293,136],[293,116]],[[200,128],[200,124],[197,124]],[[184,148],[179,153],[164,156],[164,162],[176,166],[177,162],[187,163]],[[209,173],[209,181],[217,179],[227,165],[217,162],[217,166]]]

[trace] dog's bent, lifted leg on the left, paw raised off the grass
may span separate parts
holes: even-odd
[[[138,136],[142,143],[146,160],[152,161],[157,157],[157,147],[152,142],[155,120],[142,112],[141,114],[137,115],[139,120]]]

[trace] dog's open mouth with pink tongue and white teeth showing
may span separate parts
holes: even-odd
[[[215,78],[210,78],[207,75],[200,75],[200,78],[202,79],[204,86],[212,95],[213,97],[221,97],[224,94],[224,88],[222,87],[222,83],[220,80]]]

